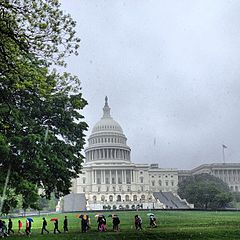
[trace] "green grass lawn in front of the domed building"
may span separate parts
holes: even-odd
[[[66,214],[69,218],[69,233],[53,234],[53,222],[50,219],[59,219],[59,229],[62,231],[62,223],[65,214],[45,216],[48,220],[50,234],[41,235],[41,217],[33,217],[32,239],[91,239],[91,240],[120,240],[120,239],[240,239],[240,213],[238,212],[190,212],[190,211],[154,211],[157,218],[157,228],[149,228],[147,212],[138,212],[143,220],[143,231],[134,228],[134,215],[136,212],[118,212],[121,220],[120,232],[112,231],[111,218],[107,218],[107,232],[97,231],[95,213],[90,213],[91,229],[87,233],[81,233],[80,219],[75,214]],[[110,213],[103,214],[107,217]],[[13,226],[17,232],[17,221],[13,219]],[[23,219],[25,227],[25,219]],[[8,239],[23,239],[25,236],[10,236]]]

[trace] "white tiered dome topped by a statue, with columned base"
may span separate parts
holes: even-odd
[[[110,115],[108,98],[105,97],[103,116],[92,130],[85,149],[86,162],[92,161],[130,161],[131,149],[118,122]]]

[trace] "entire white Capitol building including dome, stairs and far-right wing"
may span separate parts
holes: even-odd
[[[63,210],[191,208],[177,195],[178,181],[202,172],[221,177],[233,191],[240,190],[240,164],[178,170],[133,163],[127,137],[112,118],[106,97],[102,118],[85,148],[82,173],[73,180],[71,194],[64,197]]]

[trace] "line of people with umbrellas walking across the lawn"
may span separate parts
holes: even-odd
[[[149,224],[151,228],[157,227],[156,223],[156,218],[154,214],[150,213],[148,214],[149,216]],[[107,225],[107,220],[104,215],[102,214],[97,214],[95,215],[97,218],[97,224],[98,224],[98,231],[100,232],[105,232],[107,230],[106,225]],[[120,230],[119,225],[120,225],[120,219],[118,215],[116,214],[111,214],[108,217],[112,218],[112,226],[113,226],[113,231],[117,232]],[[81,227],[82,227],[82,232],[87,232],[90,229],[90,217],[87,214],[82,214],[79,215],[79,218],[81,219]],[[49,231],[47,229],[47,220],[45,217],[42,219],[42,229],[41,229],[41,234],[47,233],[49,234]],[[53,233],[61,233],[61,231],[58,228],[58,218],[52,218],[50,221],[54,221],[54,230]],[[26,229],[25,229],[25,234],[27,236],[31,235],[31,228],[32,228],[32,218],[27,218],[26,220]],[[134,216],[134,224],[135,224],[135,229],[136,230],[142,230],[142,218],[140,215],[135,215]],[[21,220],[18,220],[18,234],[19,235],[24,235],[24,232],[22,231],[23,224]],[[63,231],[66,233],[68,232],[68,218],[67,216],[64,217],[63,221]],[[8,219],[8,224],[0,220],[0,237],[8,237],[9,235],[14,234],[13,231],[13,222],[11,218]]]

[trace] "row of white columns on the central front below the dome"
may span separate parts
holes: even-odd
[[[131,184],[137,182],[134,170],[93,170],[91,172],[93,184]]]

